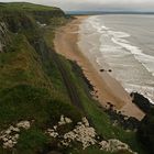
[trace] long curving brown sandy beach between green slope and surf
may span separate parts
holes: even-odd
[[[54,41],[56,52],[70,61],[77,62],[94,86],[95,91],[97,91],[95,97],[101,106],[107,107],[110,102],[123,114],[141,120],[144,113],[132,103],[130,95],[121,84],[107,72],[101,73],[100,68],[97,68],[97,65],[91,63],[90,58],[87,58],[84,51],[78,47],[79,24],[86,18],[88,16],[76,16],[76,20],[57,30]]]

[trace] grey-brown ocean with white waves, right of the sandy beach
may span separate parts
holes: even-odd
[[[154,15],[103,14],[84,20],[78,46],[129,92],[154,102]]]

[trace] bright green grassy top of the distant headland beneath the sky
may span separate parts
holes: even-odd
[[[23,11],[53,11],[58,10],[55,7],[47,7],[41,4],[34,4],[29,2],[0,2],[0,10],[23,10]]]

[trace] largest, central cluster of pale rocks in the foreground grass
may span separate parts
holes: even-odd
[[[73,121],[69,118],[62,116],[58,125],[54,125],[53,129],[47,129],[46,133],[52,138],[58,138],[58,132],[56,131],[57,127],[72,122]],[[86,118],[82,118],[81,122],[78,122],[73,131],[61,138],[61,143],[65,146],[68,146],[73,141],[80,142],[84,148],[96,144],[96,131],[94,128],[89,127],[89,122]]]

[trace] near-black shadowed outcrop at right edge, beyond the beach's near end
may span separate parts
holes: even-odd
[[[142,143],[144,148],[148,151],[150,154],[154,153],[154,106],[144,96],[132,92],[133,102],[143,110],[146,116],[141,121],[138,129],[138,139]]]

